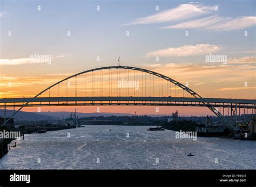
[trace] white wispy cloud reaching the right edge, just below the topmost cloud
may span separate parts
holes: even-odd
[[[210,16],[206,18],[186,21],[176,25],[170,25],[161,28],[197,28],[200,30],[216,30],[216,31],[230,31],[230,30],[239,30],[241,28],[250,27],[256,24],[255,16],[242,16],[237,18],[230,17],[220,17],[220,16]]]

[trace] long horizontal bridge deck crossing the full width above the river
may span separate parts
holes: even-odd
[[[0,107],[27,106],[71,106],[71,105],[175,105],[236,107],[256,109],[254,99],[190,98],[190,97],[37,97],[3,98]]]

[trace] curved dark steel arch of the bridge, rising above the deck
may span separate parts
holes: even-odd
[[[80,73],[77,73],[77,74],[74,74],[74,75],[71,75],[69,77],[66,77],[64,78],[63,80],[61,81],[58,81],[57,83],[55,84],[52,84],[50,87],[44,89],[43,91],[39,92],[34,98],[42,95],[42,93],[44,93],[45,91],[48,91],[50,90],[52,87],[55,87],[55,85],[58,85],[59,83],[62,83],[66,80],[69,80],[70,78],[72,77],[76,77],[78,75],[82,75],[82,74],[85,74],[85,73],[89,73],[89,72],[93,72],[93,71],[98,71],[98,70],[103,70],[103,69],[131,69],[131,70],[137,70],[137,71],[142,71],[142,72],[145,72],[145,73],[148,73],[148,74],[151,74],[151,75],[155,75],[155,76],[158,76],[160,78],[163,78],[164,80],[166,81],[169,81],[175,85],[177,85],[179,88],[185,90],[186,92],[190,93],[193,97],[195,98],[202,98],[200,95],[198,95],[198,93],[196,93],[195,91],[191,90],[190,88],[186,87],[185,85],[181,84],[180,82],[176,81],[176,80],[173,80],[172,78],[170,77],[167,77],[163,74],[159,74],[155,71],[151,71],[151,70],[148,70],[148,69],[144,69],[144,68],[137,68],[137,67],[130,67],[130,66],[107,66],[107,67],[100,67],[100,68],[94,68],[94,69],[90,69],[90,70],[85,70],[85,71],[82,71]],[[23,104],[14,114],[12,114],[10,118],[14,117],[16,113],[18,113],[24,106],[26,106],[27,104],[29,104],[30,102],[26,102],[25,104]],[[206,103],[204,103],[206,104]],[[208,104],[208,108],[218,117],[221,117],[223,119],[223,121],[226,121],[225,117],[218,111],[215,109],[215,107],[213,107],[210,103],[207,103]],[[5,120],[5,122],[2,124],[2,126],[4,124],[6,124],[9,119]],[[235,129],[235,127],[229,122],[229,121],[226,121],[226,125],[228,125],[229,127]]]

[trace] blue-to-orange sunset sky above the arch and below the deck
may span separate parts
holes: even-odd
[[[255,1],[1,1],[0,97],[33,97],[65,77],[122,66],[156,71],[202,97],[255,99]],[[31,55],[50,55],[51,63]],[[226,62],[208,62],[209,55]],[[97,57],[98,60],[97,61]],[[159,59],[159,60],[157,60]],[[96,106],[76,107],[96,112]],[[155,107],[101,112],[156,114]],[[71,111],[74,107],[43,107]],[[160,107],[183,115],[208,109]],[[37,111],[26,108],[23,111]]]

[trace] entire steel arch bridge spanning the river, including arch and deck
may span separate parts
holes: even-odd
[[[186,85],[152,70],[109,66],[82,71],[52,84],[32,98],[3,98],[0,108],[81,105],[154,105],[208,107],[237,130],[241,114],[254,114],[254,99],[203,98]],[[15,108],[18,108],[15,111]],[[226,113],[226,116],[225,116]],[[226,117],[226,118],[225,118]],[[8,123],[6,119],[2,126]]]

